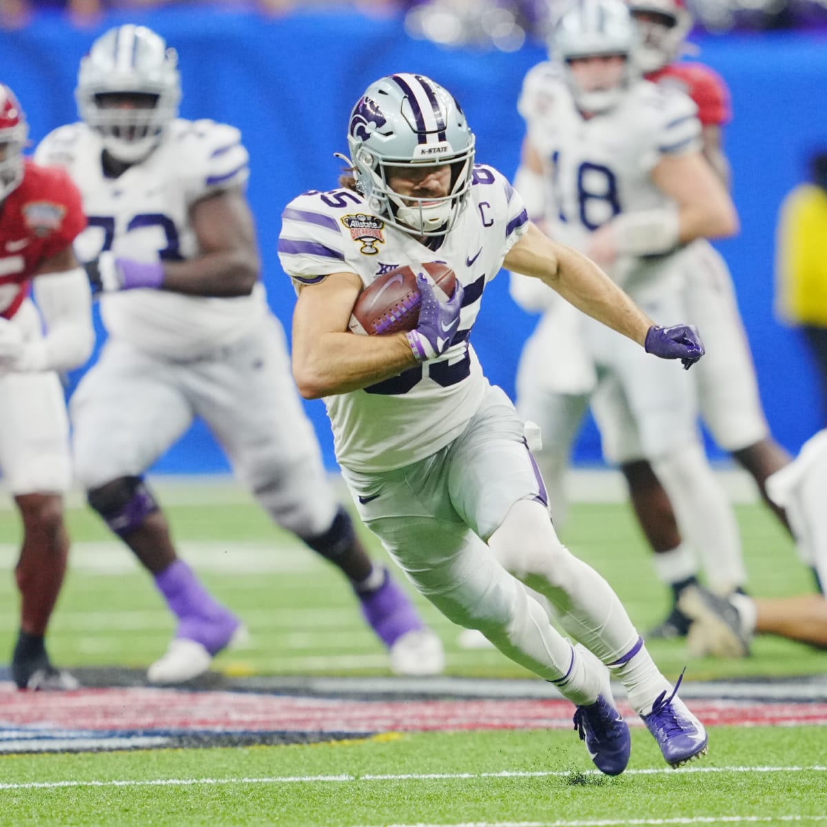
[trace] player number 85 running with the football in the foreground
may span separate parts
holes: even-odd
[[[279,251],[299,294],[294,377],[306,398],[324,398],[361,518],[443,614],[479,629],[576,705],[576,729],[602,772],[623,772],[630,748],[604,664],[667,762],[700,755],[703,726],[657,670],[617,596],[557,539],[523,423],[469,342],[485,287],[503,264],[642,353],[690,365],[703,353],[696,331],[653,324],[593,262],[534,227],[503,175],[474,164],[466,118],[433,80],[394,74],[370,84],[347,141],[351,174],[339,189],[289,203]],[[349,331],[362,289],[395,266],[428,261],[456,272],[450,299],[439,300],[420,273],[416,329]],[[517,577],[498,559],[514,561]],[[520,581],[552,602],[576,646]]]

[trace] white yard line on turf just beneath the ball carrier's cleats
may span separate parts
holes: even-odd
[[[680,770],[673,770],[667,767],[658,767],[652,769],[642,770],[627,770],[624,772],[624,777],[636,775],[667,775],[673,778],[681,777],[687,773],[726,773],[726,772],[827,772],[827,767],[815,765],[813,767],[683,767]],[[399,775],[351,775],[343,772],[341,775],[319,775],[319,776],[270,776],[263,778],[150,778],[146,780],[136,779],[112,779],[107,781],[44,781],[44,782],[20,782],[20,783],[0,783],[0,790],[51,790],[61,787],[117,787],[117,786],[216,786],[227,784],[318,784],[318,783],[352,783],[352,782],[384,782],[384,781],[476,781],[483,778],[566,778],[572,775],[576,776],[598,776],[603,777],[603,773],[599,770],[586,770],[584,772],[573,772],[571,770],[560,771],[543,771],[537,772],[528,771],[511,771],[503,770],[501,772],[424,772],[424,773],[404,773]],[[798,818],[799,816],[790,816],[790,819]],[[801,816],[801,818],[810,818],[810,816]],[[744,816],[744,818],[747,818]],[[718,819],[720,820],[720,819]],[[825,816],[827,820],[827,816]],[[543,825],[614,825],[614,824],[683,824],[684,822],[670,820],[662,821],[597,821],[597,822],[542,822]],[[686,822],[687,824],[691,822]],[[399,825],[401,827],[401,825]],[[414,827],[414,825],[410,825]],[[437,825],[433,825],[437,827]],[[452,825],[452,827],[465,827],[465,825]]]

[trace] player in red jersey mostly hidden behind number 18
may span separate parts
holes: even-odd
[[[691,30],[691,15],[683,0],[628,0],[640,42],[636,60],[644,77],[665,87],[679,88],[698,108],[702,151],[706,160],[729,184],[729,161],[723,148],[723,129],[731,119],[729,90],[708,66],[678,60]],[[694,241],[682,256],[686,312],[704,332],[708,354],[694,371],[700,414],[715,442],[731,453],[753,476],[762,497],[786,525],[784,512],[767,497],[766,480],[790,461],[772,438],[758,394],[752,356],[735,298],[732,276],[724,259],[706,239]],[[607,411],[607,414],[611,414]],[[609,427],[609,426],[607,426]],[[681,534],[671,504],[652,466],[626,452],[621,470],[629,483],[632,503],[641,526],[657,555],[655,568],[672,591],[673,607],[667,619],[649,637],[679,637],[687,633],[690,618],[678,603],[690,609],[697,586],[697,561]],[[710,563],[713,561],[710,561]],[[715,579],[715,578],[713,578]],[[688,590],[688,591],[687,591]]]

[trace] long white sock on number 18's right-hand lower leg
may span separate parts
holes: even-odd
[[[719,594],[743,586],[741,538],[735,514],[700,444],[652,463],[672,501],[681,534],[696,548],[710,588]]]

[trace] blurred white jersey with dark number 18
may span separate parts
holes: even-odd
[[[667,206],[651,173],[662,158],[700,149],[696,104],[675,88],[636,81],[609,112],[586,118],[557,67],[534,66],[518,108],[547,176],[547,228],[557,241],[586,251],[589,237],[620,213]],[[612,275],[635,294],[638,286],[672,277],[667,256],[617,262]]]

